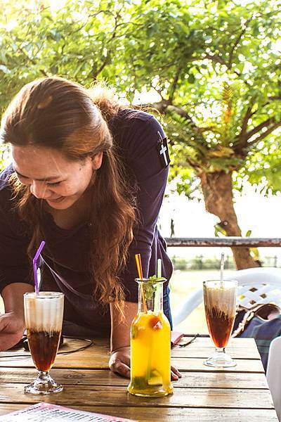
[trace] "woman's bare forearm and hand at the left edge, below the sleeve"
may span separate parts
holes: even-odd
[[[0,315],[0,350],[13,347],[25,331],[23,294],[34,288],[27,283],[12,283],[2,290],[5,314]]]

